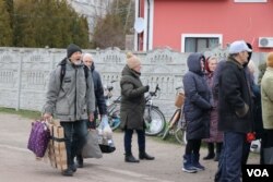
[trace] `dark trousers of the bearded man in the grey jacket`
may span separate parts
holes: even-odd
[[[60,122],[64,130],[68,166],[74,165],[74,157],[86,143],[87,128],[86,121]]]

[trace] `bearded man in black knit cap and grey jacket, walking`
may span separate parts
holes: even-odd
[[[44,106],[44,119],[54,116],[60,120],[64,130],[68,169],[62,174],[67,177],[72,177],[76,171],[74,157],[85,144],[85,121],[94,120],[93,78],[92,74],[85,75],[81,58],[81,48],[74,44],[69,45],[67,57],[50,74]]]

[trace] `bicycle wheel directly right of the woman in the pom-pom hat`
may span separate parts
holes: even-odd
[[[149,136],[158,135],[165,129],[165,117],[162,111],[156,107],[145,107],[144,122],[145,134]]]

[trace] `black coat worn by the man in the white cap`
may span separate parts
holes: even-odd
[[[218,129],[226,132],[247,133],[252,130],[252,100],[244,66],[229,57],[219,75]]]

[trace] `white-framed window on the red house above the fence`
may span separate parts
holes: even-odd
[[[222,45],[222,35],[219,34],[183,34],[182,52],[202,52],[210,48],[216,48]]]

